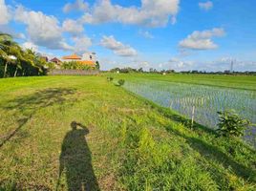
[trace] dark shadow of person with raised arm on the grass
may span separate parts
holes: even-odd
[[[77,126],[81,129],[77,129]],[[59,180],[65,172],[68,190],[99,190],[92,166],[91,151],[85,138],[89,130],[75,121],[71,123],[71,127],[72,130],[62,142]]]

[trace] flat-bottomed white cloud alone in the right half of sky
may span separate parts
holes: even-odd
[[[224,33],[224,29],[222,28],[214,28],[203,32],[192,32],[192,34],[180,41],[179,46],[184,49],[192,50],[216,49],[218,45],[216,45],[211,38],[215,36],[222,37]]]

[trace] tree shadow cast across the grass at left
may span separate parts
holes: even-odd
[[[10,140],[40,108],[46,108],[53,104],[62,104],[67,100],[65,96],[73,94],[75,94],[75,89],[50,88],[35,92],[29,96],[21,96],[9,100],[8,104],[3,107],[3,109],[14,110],[14,116],[23,117],[16,120],[18,123],[16,128],[0,138],[0,148]]]

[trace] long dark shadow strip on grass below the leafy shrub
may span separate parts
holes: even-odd
[[[229,158],[218,147],[211,145],[201,138],[193,138],[186,136],[178,130],[166,127],[168,132],[174,133],[181,138],[185,138],[187,143],[195,150],[197,150],[205,159],[213,159],[218,163],[222,163],[225,168],[232,168],[232,171],[238,176],[250,182],[255,181],[255,172],[253,169],[246,167],[243,164],[238,163],[234,159]]]

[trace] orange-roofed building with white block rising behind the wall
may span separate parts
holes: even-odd
[[[96,66],[96,53],[83,53],[81,56],[77,54],[66,55],[61,58],[62,62],[75,61],[84,65]]]

